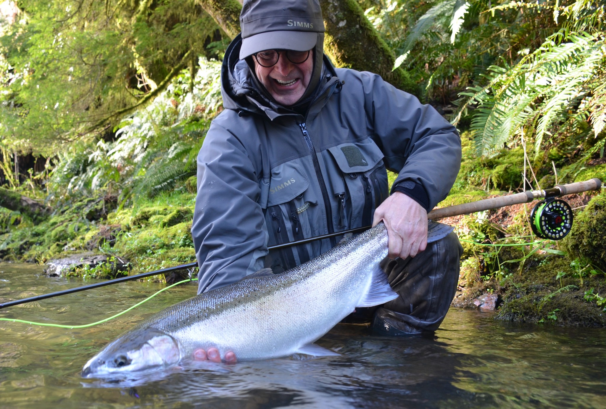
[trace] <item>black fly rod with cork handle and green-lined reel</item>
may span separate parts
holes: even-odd
[[[581,193],[588,190],[599,190],[602,187],[600,179],[590,179],[585,182],[576,182],[567,185],[556,185],[553,188],[546,190],[529,190],[514,195],[499,196],[497,198],[484,199],[477,202],[464,203],[460,205],[448,206],[431,210],[427,214],[430,220],[448,218],[451,216],[459,216],[461,214],[474,213],[476,211],[491,210],[510,206],[514,204],[528,203],[535,199],[545,199],[539,202],[531,213],[531,228],[534,233],[540,238],[559,240],[564,238],[570,231],[572,225],[572,209],[570,206],[559,199],[559,196],[571,195],[573,193]],[[279,250],[294,245],[307,244],[316,240],[329,239],[336,236],[341,236],[347,233],[359,233],[367,230],[371,226],[351,228],[349,230],[338,231],[336,233],[322,234],[308,239],[301,239],[284,244],[278,244],[268,247],[268,250]],[[158,274],[171,273],[177,270],[190,270],[198,266],[197,262],[176,265],[175,267],[162,268],[161,270],[148,271],[147,273],[135,274],[134,276],[126,276],[98,282],[95,284],[82,285],[81,287],[69,288],[67,290],[55,291],[54,293],[41,294],[29,298],[8,301],[0,304],[0,309],[12,307],[13,305],[24,304],[25,302],[39,301],[42,299],[52,298],[65,294],[77,293],[78,291],[91,290],[92,288],[104,287],[105,285],[118,284],[120,282],[137,280],[156,276]]]

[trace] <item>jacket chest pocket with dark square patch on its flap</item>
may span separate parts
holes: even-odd
[[[340,173],[331,178],[331,185],[338,201],[337,218],[346,221],[341,227],[370,225],[375,209],[388,196],[383,153],[370,138],[337,145],[328,151]]]

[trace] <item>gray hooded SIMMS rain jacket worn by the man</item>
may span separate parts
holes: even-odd
[[[324,59],[307,114],[277,105],[255,88],[241,39],[222,65],[225,110],[198,155],[191,234],[198,292],[264,267],[275,273],[334,247],[340,238],[268,252],[268,246],[370,225],[388,196],[385,168],[420,186],[433,208],[461,164],[456,129],[429,105],[380,76],[333,68]],[[415,184],[412,184],[415,182]]]

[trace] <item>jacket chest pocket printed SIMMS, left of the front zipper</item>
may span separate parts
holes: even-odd
[[[299,159],[272,168],[270,179],[261,181],[261,192],[260,204],[269,246],[312,236],[309,215],[317,207],[318,200]],[[318,254],[313,244],[271,250],[265,257],[265,267],[281,273]]]

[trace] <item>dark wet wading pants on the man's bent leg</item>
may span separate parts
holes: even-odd
[[[379,307],[356,308],[344,322],[368,322],[377,335],[407,335],[438,329],[454,298],[463,249],[456,234],[427,244],[407,259],[385,258],[381,267],[399,298]]]

